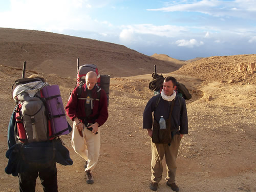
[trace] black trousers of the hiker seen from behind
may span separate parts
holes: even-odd
[[[19,191],[20,192],[34,192],[36,185],[36,178],[41,180],[42,187],[45,192],[57,192],[57,168],[56,162],[52,161],[47,165],[33,164],[30,165],[27,172],[18,174],[19,177]]]

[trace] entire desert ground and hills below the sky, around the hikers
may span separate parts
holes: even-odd
[[[179,61],[167,55],[151,57],[121,45],[41,31],[0,28],[0,191],[18,191],[18,178],[4,171],[8,159],[7,129],[15,106],[12,85],[22,77],[44,75],[58,84],[64,104],[76,84],[80,64],[94,63],[111,75],[109,119],[101,129],[101,151],[86,184],[84,160],[61,136],[74,161],[58,168],[59,191],[151,191],[151,144],[142,129],[154,65],[157,73],[174,76],[193,97],[186,100],[189,134],[177,158],[180,191],[256,191],[256,54],[212,56]],[[69,120],[69,123],[72,123]],[[158,191],[172,191],[163,179]],[[37,180],[36,191],[43,191]]]

